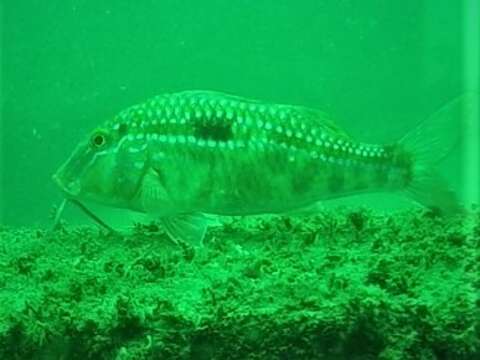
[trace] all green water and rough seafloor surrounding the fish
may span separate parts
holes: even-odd
[[[313,217],[223,219],[201,252],[113,209],[98,212],[122,238],[70,208],[50,228],[53,172],[157,94],[304,105],[362,141],[401,138],[478,91],[478,13],[474,0],[2,1],[0,357],[476,358],[475,209],[446,219],[365,195]],[[441,170],[471,209],[478,123],[465,132]]]

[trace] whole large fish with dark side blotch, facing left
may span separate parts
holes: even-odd
[[[106,119],[53,175],[67,199],[153,215],[201,246],[213,217],[282,214],[368,192],[460,205],[436,165],[458,143],[469,97],[396,142],[361,142],[326,113],[215,91],[152,97]]]

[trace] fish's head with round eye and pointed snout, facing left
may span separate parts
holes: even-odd
[[[116,139],[106,128],[97,128],[80,142],[53,180],[67,198],[117,205],[114,171]]]

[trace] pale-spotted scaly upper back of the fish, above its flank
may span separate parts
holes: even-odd
[[[348,137],[339,129],[321,123],[325,119],[319,112],[312,116],[307,109],[300,107],[257,105],[236,97],[221,101],[218,98],[222,99],[222,96],[226,97],[217,93],[194,92],[172,95],[171,98],[157,97],[120,113],[110,126],[118,128],[121,123],[127,122],[135,125],[133,131],[136,128],[146,134],[168,136],[194,135],[195,126],[212,132],[231,127],[232,139],[237,141],[267,143],[271,140],[284,147],[317,150],[334,157],[341,157],[347,152],[352,158],[359,159],[382,155],[383,148],[380,146],[348,143]],[[207,97],[213,97],[213,100],[207,101]],[[211,135],[213,140],[217,140],[214,133]]]

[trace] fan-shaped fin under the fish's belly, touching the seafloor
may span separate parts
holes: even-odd
[[[167,216],[160,221],[173,242],[182,241],[196,247],[203,246],[203,238],[209,223],[203,214]]]

